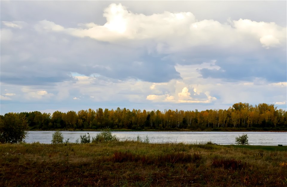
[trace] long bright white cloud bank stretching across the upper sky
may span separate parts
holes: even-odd
[[[251,48],[258,42],[265,48],[286,43],[286,27],[274,22],[239,19],[222,24],[212,19],[198,21],[191,12],[165,11],[144,15],[132,13],[120,3],[110,4],[104,10],[103,16],[106,18],[104,25],[86,23],[80,24],[83,28],[64,28],[54,22],[43,20],[37,28],[106,42],[153,39],[157,42],[155,48],[160,53],[180,51],[199,45],[226,48],[241,45],[242,41],[249,42]],[[247,38],[250,39],[246,40]]]

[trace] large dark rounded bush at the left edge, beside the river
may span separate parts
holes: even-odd
[[[24,115],[7,113],[0,116],[0,142],[20,143],[27,136],[28,123]]]

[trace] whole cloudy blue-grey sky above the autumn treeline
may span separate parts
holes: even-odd
[[[287,108],[287,1],[0,5],[1,115]]]

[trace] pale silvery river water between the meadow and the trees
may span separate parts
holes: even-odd
[[[29,131],[25,139],[27,143],[40,142],[50,144],[52,134],[55,131]],[[100,131],[61,131],[64,136],[64,141],[69,139],[69,142],[80,141],[80,135],[89,133],[91,137],[96,136]],[[235,137],[242,134],[248,135],[250,145],[287,145],[287,132],[182,132],[182,131],[111,131],[120,141],[137,140],[139,136],[142,140],[148,137],[151,143],[204,143],[211,141],[219,145],[235,144]]]

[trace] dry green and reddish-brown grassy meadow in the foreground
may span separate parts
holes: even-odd
[[[287,147],[1,144],[0,186],[287,186]]]

